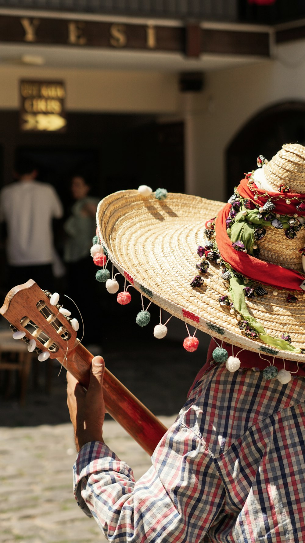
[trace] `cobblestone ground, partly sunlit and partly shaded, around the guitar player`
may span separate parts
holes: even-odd
[[[190,355],[180,343],[163,345],[162,351],[158,346],[158,351],[126,348],[124,354],[103,354],[108,369],[168,427],[205,352]],[[65,372],[57,377],[59,364],[54,362],[47,396],[44,369],[41,365],[35,387],[31,375],[25,406],[14,394],[9,400],[0,395],[0,543],[103,541],[95,521],[81,512],[73,496],[76,452]],[[105,421],[104,435],[107,445],[133,468],[136,479],[151,465],[148,454],[112,419]]]

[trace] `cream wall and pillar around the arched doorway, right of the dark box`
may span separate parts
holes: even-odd
[[[305,41],[278,46],[274,54],[274,60],[207,73],[204,91],[189,97],[187,192],[224,199],[225,150],[232,138],[259,111],[305,100]]]

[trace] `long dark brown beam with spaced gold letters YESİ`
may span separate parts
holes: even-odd
[[[12,16],[0,14],[0,43],[100,47],[179,53],[199,57],[204,53],[270,55],[269,30],[202,28],[199,22],[181,21],[177,25],[141,20],[135,22],[96,21],[79,18],[54,18],[40,15]]]

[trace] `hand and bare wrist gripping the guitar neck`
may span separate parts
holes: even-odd
[[[89,441],[102,441],[102,426],[105,418],[103,399],[103,375],[105,363],[101,356],[92,359],[89,387],[81,384],[67,372],[67,404],[70,419],[74,427],[77,452]]]

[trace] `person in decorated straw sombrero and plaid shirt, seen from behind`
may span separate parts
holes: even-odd
[[[75,494],[109,541],[305,540],[305,148],[286,144],[258,166],[225,205],[165,200],[148,187],[99,205],[99,239],[114,266],[212,336],[206,365],[137,482],[103,443],[102,358],[87,394],[68,376]],[[155,335],[164,329],[160,318]],[[189,332],[184,347],[197,345]]]

